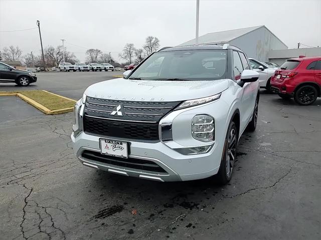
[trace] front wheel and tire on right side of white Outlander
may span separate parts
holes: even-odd
[[[235,122],[231,122],[226,134],[220,169],[216,175],[220,184],[225,185],[232,179],[234,163],[236,160],[236,146],[238,132]]]

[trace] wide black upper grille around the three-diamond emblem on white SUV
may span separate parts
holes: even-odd
[[[181,102],[138,102],[87,97],[84,131],[99,136],[159,140],[158,123]],[[111,115],[117,106],[121,115]]]

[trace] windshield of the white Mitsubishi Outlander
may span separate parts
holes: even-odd
[[[129,77],[142,80],[218,80],[226,73],[226,50],[157,52]]]

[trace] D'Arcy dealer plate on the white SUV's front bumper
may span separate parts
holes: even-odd
[[[128,158],[127,142],[100,139],[100,152],[105,155]]]

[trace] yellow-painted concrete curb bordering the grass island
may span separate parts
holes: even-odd
[[[44,92],[47,92],[45,90],[42,90]],[[51,93],[51,92],[47,92],[47,93]],[[56,95],[58,97],[61,98],[65,98],[74,102],[77,102],[73,99],[70,98],[66,98],[64,96],[60,96],[54,93],[51,93],[53,95]],[[35,100],[23,95],[22,93],[0,93],[0,96],[18,96],[20,97],[22,100],[24,100],[25,102],[29,103],[30,105],[34,106],[35,108],[37,108],[38,110],[40,110],[41,112],[47,114],[47,115],[54,115],[54,114],[61,114],[61,113],[67,113],[67,112],[72,112],[74,110],[73,107],[70,108],[62,108],[62,109],[57,109],[57,110],[50,110],[48,108],[46,108],[45,106],[41,105],[40,103],[36,102]]]

